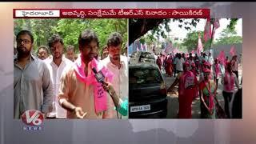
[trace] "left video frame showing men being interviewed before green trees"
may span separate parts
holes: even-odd
[[[14,118],[128,118],[127,25],[14,19]]]

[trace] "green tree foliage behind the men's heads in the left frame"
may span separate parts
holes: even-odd
[[[100,51],[106,45],[107,38],[113,32],[118,32],[123,38],[123,48],[127,43],[127,19],[15,19],[14,34],[20,30],[30,30],[34,34],[34,50],[38,46],[48,45],[48,39],[53,34],[59,34],[64,46],[74,45],[78,53],[78,36],[82,30],[94,30],[98,35]]]

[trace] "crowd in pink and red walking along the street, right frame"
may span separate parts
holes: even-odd
[[[200,98],[201,118],[242,118],[242,105],[237,112],[230,113],[230,102],[234,101],[234,86],[242,90],[238,82],[238,56],[221,60],[213,58],[211,53],[200,56],[187,54],[160,54],[156,60],[159,69],[175,78],[168,91],[178,84],[178,118],[191,118],[191,105],[195,98]],[[177,75],[177,76],[176,76]],[[216,97],[218,80],[222,79],[222,96],[225,110]],[[240,82],[242,85],[242,80]],[[239,93],[242,94],[242,93]],[[214,101],[215,100],[215,101]],[[238,103],[242,103],[241,101]],[[234,107],[234,106],[233,106]]]

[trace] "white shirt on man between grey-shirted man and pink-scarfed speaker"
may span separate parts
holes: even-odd
[[[50,71],[50,80],[54,87],[53,110],[50,112],[49,117],[66,118],[66,110],[58,103],[58,90],[63,70],[66,66],[72,66],[73,62],[65,58],[64,55],[62,55],[62,62],[59,66],[54,63],[53,58],[47,58],[44,61]]]

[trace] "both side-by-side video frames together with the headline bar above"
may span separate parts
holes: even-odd
[[[14,118],[242,118],[242,18],[209,13],[14,10]]]

